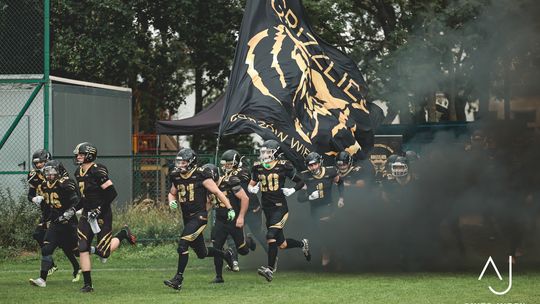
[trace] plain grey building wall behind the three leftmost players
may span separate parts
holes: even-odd
[[[53,83],[52,153],[73,177],[73,149],[91,142],[121,204],[132,201],[131,93]]]

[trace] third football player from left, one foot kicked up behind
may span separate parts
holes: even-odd
[[[135,244],[136,237],[129,227],[124,226],[114,236],[112,235],[111,203],[117,196],[114,184],[109,178],[109,172],[102,164],[95,163],[97,148],[88,142],[78,144],[73,150],[75,164],[75,180],[81,193],[79,208],[82,216],[78,226],[79,251],[81,269],[84,278],[82,292],[94,290],[91,277],[90,253],[98,255],[105,261],[111,252],[118,249],[122,240]],[[97,245],[91,246],[97,235]]]

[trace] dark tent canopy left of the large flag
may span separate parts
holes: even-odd
[[[167,135],[217,134],[224,102],[225,95],[222,95],[195,116],[180,120],[159,120],[156,123],[156,133]]]

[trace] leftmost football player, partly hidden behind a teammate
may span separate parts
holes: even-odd
[[[39,248],[43,247],[43,238],[45,237],[45,232],[47,232],[47,212],[49,208],[43,204],[43,195],[41,193],[41,184],[45,181],[41,169],[47,161],[51,160],[51,153],[45,149],[39,149],[32,154],[32,170],[28,173],[28,201],[36,204],[38,208],[41,209],[41,217],[39,223],[32,233],[32,238],[36,240],[39,245]],[[51,257],[52,258],[52,257]],[[49,270],[49,275],[52,275],[58,267],[52,262],[51,269]]]

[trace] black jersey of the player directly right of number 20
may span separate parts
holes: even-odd
[[[338,176],[338,172],[337,169],[334,167],[323,167],[321,169],[321,173],[317,176],[314,176],[308,170],[303,171],[302,178],[306,183],[307,189],[303,190],[299,194],[299,200],[309,200],[309,195],[315,191],[318,191],[319,198],[310,201],[312,207],[333,203],[332,187],[334,185],[334,179],[336,178],[336,176]]]

